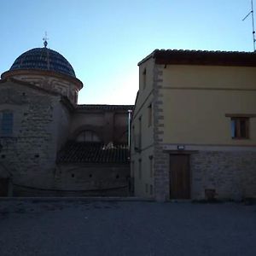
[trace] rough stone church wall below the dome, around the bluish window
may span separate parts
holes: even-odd
[[[0,159],[15,184],[36,188],[53,185],[56,155],[54,111],[60,96],[21,84],[0,84],[0,111],[14,113],[12,137],[0,137]]]

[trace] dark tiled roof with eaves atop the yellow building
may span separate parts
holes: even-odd
[[[138,63],[154,58],[156,64],[224,65],[256,67],[256,53],[245,51],[155,49]]]

